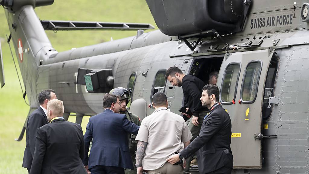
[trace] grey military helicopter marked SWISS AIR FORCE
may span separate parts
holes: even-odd
[[[120,86],[131,89],[128,107],[141,119],[154,111],[151,99],[158,91],[179,113],[182,89],[164,79],[167,68],[177,66],[205,83],[210,72],[219,71],[220,102],[232,120],[232,172],[308,173],[308,0],[146,0],[160,30],[64,52],[52,47],[44,29],[152,26],[40,21],[34,8],[53,0],[0,2],[29,113],[38,106],[37,91],[54,89],[64,102],[64,117],[74,112],[81,123],[84,115],[101,112],[104,94]],[[19,140],[23,134],[24,128]]]

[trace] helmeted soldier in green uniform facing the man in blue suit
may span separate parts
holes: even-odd
[[[127,104],[129,102],[129,91],[123,87],[118,87],[112,89],[109,94],[114,94],[120,97],[120,113],[125,114],[131,122],[137,125],[141,125],[141,120],[139,119],[138,116],[130,113],[127,109]],[[133,161],[133,166],[135,166],[136,160],[135,160],[135,151],[137,149],[137,141],[135,141],[136,135],[133,134],[128,134],[128,141],[129,141],[129,150],[131,154],[131,158]],[[135,168],[135,167],[134,167]],[[131,169],[125,169],[125,174],[136,174],[136,169],[135,171]]]

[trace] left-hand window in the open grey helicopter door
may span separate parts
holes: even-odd
[[[235,101],[239,71],[240,63],[227,65],[221,85],[220,100],[222,104],[232,104],[232,101]]]

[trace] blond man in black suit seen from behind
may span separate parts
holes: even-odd
[[[63,119],[63,102],[49,101],[47,118],[50,122],[36,131],[31,174],[87,174],[82,159],[85,144],[82,127]]]

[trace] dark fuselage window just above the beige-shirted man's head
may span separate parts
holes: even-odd
[[[164,78],[166,73],[166,69],[159,70],[157,74],[155,75],[154,84],[152,86],[151,90],[151,97],[150,97],[150,105],[152,106],[152,96],[157,92],[163,92],[164,93],[164,87],[166,84],[166,80]]]

